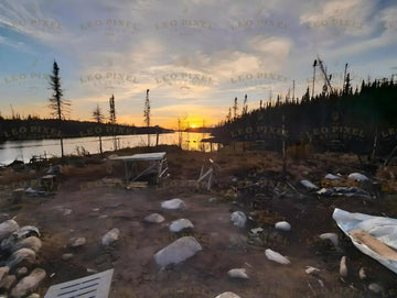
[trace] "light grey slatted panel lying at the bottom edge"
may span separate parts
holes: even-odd
[[[51,286],[44,298],[107,298],[114,269]]]

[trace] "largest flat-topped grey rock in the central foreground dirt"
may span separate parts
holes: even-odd
[[[181,263],[202,250],[202,246],[195,238],[183,236],[157,252],[154,254],[154,260],[158,265],[165,267],[169,264]]]

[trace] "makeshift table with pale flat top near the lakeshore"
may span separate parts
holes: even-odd
[[[157,184],[161,181],[161,178],[168,170],[168,163],[165,158],[165,152],[141,153],[129,156],[117,156],[111,159],[122,161],[126,168],[126,183],[133,183],[146,174],[155,173]],[[141,173],[137,174],[137,164],[139,162],[149,162],[149,166]],[[135,175],[135,176],[133,176]],[[133,177],[132,177],[133,176]]]

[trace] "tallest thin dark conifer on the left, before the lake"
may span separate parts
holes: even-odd
[[[63,99],[63,89],[61,89],[61,78],[60,78],[60,67],[54,60],[53,71],[50,75],[50,89],[53,91],[50,100],[50,109],[52,110],[52,115],[58,120],[60,125],[60,141],[61,141],[61,156],[64,157],[64,147],[62,139],[61,124],[65,119],[65,114],[69,112],[71,102]]]

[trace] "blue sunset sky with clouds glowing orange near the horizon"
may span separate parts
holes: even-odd
[[[0,0],[0,111],[49,118],[56,60],[69,119],[114,95],[118,122],[144,125],[149,89],[151,124],[208,126],[235,97],[301,98],[318,57],[334,88],[346,63],[353,86],[390,78],[396,48],[394,0]]]

